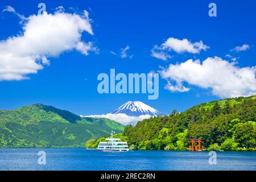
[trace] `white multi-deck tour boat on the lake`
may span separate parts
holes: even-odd
[[[110,152],[110,151],[129,151],[127,142],[121,142],[119,138],[113,138],[113,131],[111,138],[106,138],[106,142],[100,142],[97,150]]]

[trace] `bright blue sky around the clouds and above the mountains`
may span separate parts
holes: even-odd
[[[1,1],[0,39],[22,34],[20,19],[13,13],[2,12],[6,6],[26,17],[37,14],[38,3],[42,1]],[[0,109],[9,110],[19,106],[42,103],[76,114],[110,113],[127,101],[142,101],[168,114],[173,109],[184,111],[189,107],[218,100],[221,97],[212,88],[202,88],[197,84],[183,81],[188,92],[170,92],[164,89],[167,79],[159,78],[159,98],[148,100],[148,94],[99,94],[97,76],[109,73],[115,68],[117,73],[147,73],[160,71],[170,64],[184,63],[188,59],[218,56],[232,63],[232,55],[237,59],[235,67],[245,68],[255,65],[255,1],[214,1],[217,17],[208,16],[211,1],[43,1],[48,13],[63,6],[66,13],[87,10],[94,35],[82,33],[82,40],[93,42],[98,52],[84,55],[79,51],[64,51],[58,56],[49,56],[50,65],[44,65],[38,73],[26,75],[29,79],[0,81]],[[151,56],[155,45],[160,46],[168,38],[188,39],[195,43],[200,40],[208,49],[200,53],[177,53],[166,51],[171,59],[166,61]],[[230,51],[243,44],[249,45],[245,51]],[[127,55],[120,57],[121,48],[129,46]],[[115,52],[113,55],[110,51]],[[0,60],[2,61],[2,60]],[[1,68],[1,67],[0,67]],[[255,73],[255,72],[254,72]],[[216,73],[218,74],[218,73]],[[226,76],[226,75],[225,75]],[[250,84],[250,83],[249,83]],[[247,85],[250,87],[250,85]],[[250,90],[253,91],[253,90]]]

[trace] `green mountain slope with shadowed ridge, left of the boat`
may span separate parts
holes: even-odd
[[[92,138],[122,133],[124,126],[106,118],[82,118],[67,110],[35,104],[0,111],[0,148],[84,147]]]

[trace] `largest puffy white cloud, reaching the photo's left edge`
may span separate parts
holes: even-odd
[[[8,6],[4,11],[16,13]],[[93,35],[87,11],[83,15],[55,12],[30,15],[20,35],[0,42],[0,80],[22,80],[49,65],[47,57],[76,49],[84,55],[96,51],[91,42],[82,42],[82,32]]]

